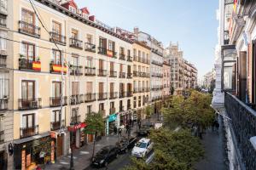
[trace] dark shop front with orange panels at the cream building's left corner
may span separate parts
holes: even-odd
[[[55,162],[56,139],[52,138],[49,133],[42,136],[15,141],[15,169],[33,169],[37,165]]]

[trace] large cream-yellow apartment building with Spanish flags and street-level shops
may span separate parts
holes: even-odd
[[[38,164],[42,155],[54,162],[68,153],[70,144],[79,148],[92,141],[92,135],[83,132],[84,119],[91,112],[102,112],[106,118],[102,132],[106,135],[129,121],[130,39],[74,1],[13,0],[10,4],[15,4],[8,13],[13,30],[9,37],[16,41],[11,43],[10,62],[15,168]]]

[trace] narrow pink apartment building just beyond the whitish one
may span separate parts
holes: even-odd
[[[163,90],[162,97],[164,99],[168,98],[171,95],[171,65],[164,60],[163,63]]]

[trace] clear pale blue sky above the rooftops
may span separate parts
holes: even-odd
[[[166,46],[179,42],[184,58],[203,76],[211,71],[217,43],[218,0],[75,0],[109,26],[148,32]]]

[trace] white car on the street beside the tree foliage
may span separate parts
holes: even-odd
[[[131,151],[131,156],[144,157],[153,149],[153,142],[150,139],[140,139]]]

